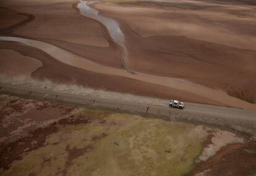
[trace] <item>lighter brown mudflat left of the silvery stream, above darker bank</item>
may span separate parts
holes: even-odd
[[[48,38],[69,41],[70,43],[109,46],[101,31],[101,25],[85,19],[72,8],[77,1],[2,1],[1,6],[14,10],[12,16],[1,16],[2,19],[14,17],[15,12],[32,14],[35,19],[14,33],[22,36]],[[15,17],[17,18],[17,17]],[[29,33],[27,33],[29,31]]]

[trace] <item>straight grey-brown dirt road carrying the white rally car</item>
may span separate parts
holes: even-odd
[[[51,88],[33,88],[33,86],[28,85],[13,86],[2,83],[0,93],[15,94],[24,98],[47,99],[82,106],[115,109],[134,114],[153,115],[165,120],[188,120],[190,122],[218,125],[256,136],[256,111],[196,103],[185,103],[186,107],[179,110],[169,108],[168,99],[115,94],[106,91],[96,93],[96,91],[93,92],[87,89],[70,93],[70,90],[72,88],[66,87],[65,90],[53,91]]]

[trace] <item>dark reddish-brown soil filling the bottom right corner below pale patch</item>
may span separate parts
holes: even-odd
[[[200,163],[188,175],[208,170],[205,175],[250,175],[256,169],[256,143],[234,144],[222,148],[215,156]]]

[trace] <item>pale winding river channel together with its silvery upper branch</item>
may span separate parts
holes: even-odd
[[[116,41],[116,43],[120,44],[126,51],[126,54],[123,58],[125,59],[127,55],[127,49],[124,44],[124,34],[121,32],[118,23],[115,22],[113,19],[109,19],[107,17],[98,15],[97,10],[93,10],[83,1],[79,3],[78,7],[81,10],[81,14],[92,19],[98,20],[99,22],[106,25],[113,40]],[[14,41],[21,44],[25,44],[27,46],[32,46],[33,48],[37,48],[41,51],[46,52],[47,54],[49,54],[50,56],[54,57],[55,59],[64,64],[71,65],[79,69],[85,69],[92,72],[108,75],[116,75],[119,77],[131,78],[134,80],[152,83],[155,85],[166,86],[169,88],[173,88],[175,90],[184,91],[184,93],[192,93],[203,98],[211,99],[216,103],[226,104],[227,106],[242,107],[245,109],[256,109],[256,104],[250,104],[246,101],[242,101],[241,99],[234,98],[221,90],[213,90],[202,85],[191,83],[187,80],[160,77],[156,75],[149,75],[146,73],[139,72],[130,73],[124,69],[108,67],[106,65],[98,64],[96,62],[90,61],[87,58],[78,56],[76,54],[73,54],[72,52],[61,49],[58,46],[54,46],[53,44],[45,43],[43,41],[30,40],[27,38],[18,38],[12,36],[0,36],[0,41]]]

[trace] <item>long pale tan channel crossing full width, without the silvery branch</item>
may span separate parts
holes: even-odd
[[[79,69],[88,70],[96,73],[108,74],[108,75],[116,75],[117,77],[120,77],[120,78],[123,78],[123,77],[130,78],[132,80],[137,80],[141,82],[165,86],[165,87],[176,89],[176,90],[181,90],[181,91],[184,91],[184,93],[190,92],[197,96],[202,96],[202,98],[208,98],[211,101],[214,101],[217,103],[223,103],[226,106],[242,107],[247,109],[256,108],[255,104],[250,104],[250,103],[247,103],[246,101],[241,101],[241,99],[233,98],[220,90],[213,90],[211,88],[207,88],[201,85],[196,85],[186,80],[181,80],[177,78],[159,77],[159,76],[148,75],[140,72],[136,72],[132,74],[132,73],[126,72],[126,70],[106,67],[104,65],[100,65],[95,62],[92,62],[86,58],[82,58],[77,55],[74,55],[71,52],[62,50],[61,48],[58,48],[51,44],[43,43],[41,41],[28,40],[24,38],[16,38],[16,37],[9,37],[9,36],[1,36],[0,40],[7,41],[7,42],[17,42],[17,43],[25,44],[26,46],[31,46],[33,48],[35,47],[36,49],[40,49],[42,52],[46,52],[46,54],[49,54],[49,56],[53,57],[54,59],[64,64],[71,65],[72,67],[77,67]]]

